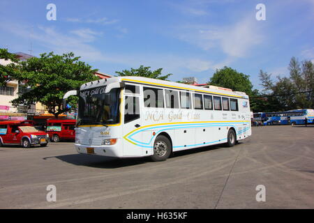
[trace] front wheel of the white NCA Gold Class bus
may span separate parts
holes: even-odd
[[[171,151],[170,140],[164,135],[158,135],[154,142],[154,155],[151,155],[151,160],[154,162],[167,160]]]

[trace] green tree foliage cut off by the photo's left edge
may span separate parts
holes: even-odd
[[[5,61],[12,61],[7,66],[0,64],[0,86],[6,86],[6,84],[14,79],[15,72],[17,69],[18,59],[15,54],[10,54],[8,49],[0,49],[0,59]]]

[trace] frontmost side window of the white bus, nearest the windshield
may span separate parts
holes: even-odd
[[[126,96],[124,107],[124,123],[129,123],[140,118],[140,99],[139,97]]]

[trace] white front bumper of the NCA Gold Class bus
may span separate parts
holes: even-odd
[[[110,157],[121,157],[121,145],[114,144],[111,146],[89,146],[89,145],[82,145],[82,144],[75,144],[75,149],[77,153],[83,154],[90,154],[90,155],[104,155]]]

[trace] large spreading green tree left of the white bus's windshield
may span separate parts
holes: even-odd
[[[98,79],[94,75],[97,70],[79,61],[80,56],[73,52],[59,56],[50,52],[40,54],[40,58],[33,57],[21,62],[20,72],[16,79],[24,82],[26,88],[31,89],[20,94],[13,100],[13,105],[32,105],[35,102],[47,106],[48,112],[57,118],[59,114],[68,112],[70,108],[62,106],[63,95],[70,90],[78,90],[86,82]],[[77,97],[71,96],[70,105],[77,105]]]

